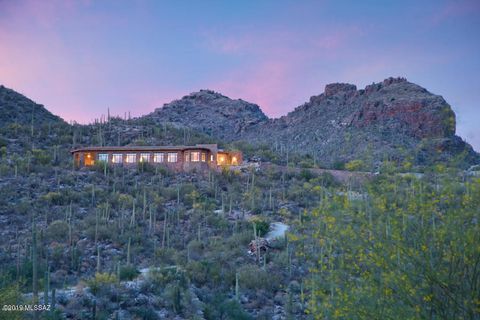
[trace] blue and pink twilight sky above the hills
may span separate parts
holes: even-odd
[[[279,117],[390,76],[442,95],[480,151],[479,0],[0,0],[0,84],[67,121],[200,89]]]

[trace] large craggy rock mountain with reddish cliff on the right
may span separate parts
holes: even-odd
[[[388,78],[362,90],[329,84],[288,115],[245,135],[313,154],[327,165],[353,159],[423,164],[455,156],[479,161],[471,146],[455,136],[455,114],[448,103],[404,78]]]

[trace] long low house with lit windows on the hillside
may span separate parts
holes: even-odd
[[[218,169],[242,163],[240,151],[218,149],[216,144],[194,146],[121,146],[83,147],[71,151],[77,167],[98,162],[112,165],[135,165],[139,162],[164,165],[176,171]]]

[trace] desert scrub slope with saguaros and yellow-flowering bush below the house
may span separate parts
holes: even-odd
[[[0,301],[53,307],[0,318],[479,319],[475,172],[438,165],[411,174],[386,161],[370,180],[340,184],[275,167],[72,170],[76,143],[202,138],[118,126],[92,126],[91,137],[67,126],[1,132]],[[238,147],[287,164],[283,154]],[[249,255],[274,221],[290,226],[286,239]]]

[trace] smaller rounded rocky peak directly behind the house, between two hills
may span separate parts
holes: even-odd
[[[146,117],[157,123],[173,123],[229,140],[268,121],[258,105],[232,100],[211,90],[191,93]]]

